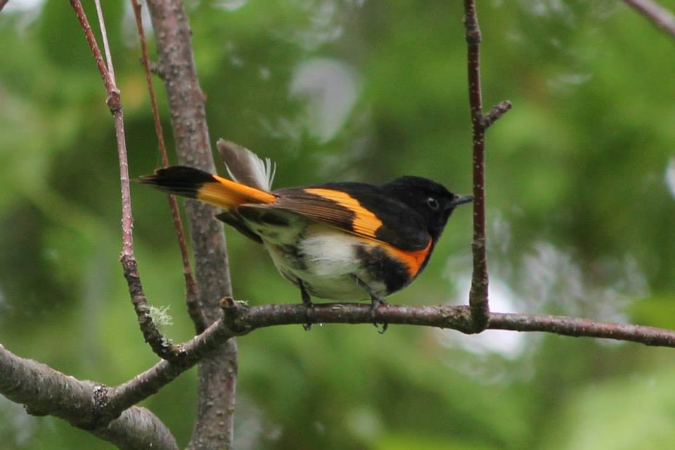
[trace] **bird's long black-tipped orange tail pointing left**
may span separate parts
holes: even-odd
[[[141,176],[139,182],[226,210],[244,203],[273,203],[276,199],[272,193],[186,166],[157,169],[152,175]]]

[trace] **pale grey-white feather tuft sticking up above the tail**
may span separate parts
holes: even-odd
[[[269,158],[262,160],[248,148],[231,141],[219,139],[216,145],[231,179],[262,191],[272,190],[276,174],[274,162]]]

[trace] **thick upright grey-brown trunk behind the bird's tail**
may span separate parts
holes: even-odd
[[[148,9],[155,28],[179,162],[213,173],[205,98],[195,69],[183,2],[148,0]],[[216,212],[212,206],[186,201],[199,302],[207,324],[221,317],[219,299],[231,295],[225,236],[221,224],[213,219]],[[236,373],[237,347],[233,339],[200,362],[197,422],[188,448],[231,448]]]

